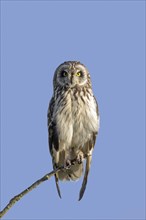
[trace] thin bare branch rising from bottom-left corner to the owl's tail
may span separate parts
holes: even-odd
[[[36,188],[38,185],[40,185],[42,182],[48,180],[51,176],[53,176],[54,174],[56,174],[57,172],[59,172],[62,169],[66,169],[65,167],[59,167],[56,170],[53,170],[50,173],[47,173],[45,176],[43,176],[41,179],[37,180],[36,182],[34,182],[31,186],[29,186],[27,189],[23,190],[21,193],[19,193],[18,195],[14,196],[10,202],[6,205],[6,207],[0,212],[0,218],[3,217],[8,211],[9,209],[16,203],[18,202],[24,195],[26,195],[27,193],[29,193],[31,190],[33,190],[34,188]]]

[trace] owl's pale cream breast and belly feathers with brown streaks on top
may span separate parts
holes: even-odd
[[[80,148],[98,132],[99,118],[92,93],[68,92],[56,108],[56,124],[63,149]]]

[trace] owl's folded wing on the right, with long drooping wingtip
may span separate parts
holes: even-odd
[[[97,103],[95,97],[94,97],[94,100],[95,100],[95,104],[96,104],[97,117],[99,118],[98,103]],[[90,153],[90,152],[92,152],[92,150],[94,148],[97,133],[98,133],[98,131],[96,133],[93,133],[91,139],[88,140],[88,142],[86,143],[86,149],[87,149],[87,152],[86,152],[86,168],[85,168],[85,174],[84,174],[82,187],[81,187],[80,193],[79,193],[79,201],[82,199],[82,197],[84,195],[84,192],[85,192],[85,189],[86,189],[86,185],[87,185],[87,181],[88,181],[88,174],[89,174],[89,171],[90,171],[90,165],[91,165],[91,160],[92,160],[92,153]]]

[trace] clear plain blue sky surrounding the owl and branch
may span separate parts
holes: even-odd
[[[101,128],[84,198],[54,179],[4,219],[144,219],[144,1],[2,1],[1,208],[52,170],[47,108],[55,68],[89,69]]]

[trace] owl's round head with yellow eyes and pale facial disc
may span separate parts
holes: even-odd
[[[78,61],[66,61],[59,65],[54,74],[54,87],[83,87],[90,84],[87,68]]]

